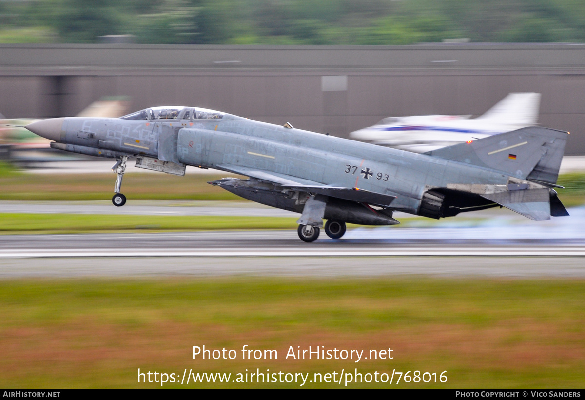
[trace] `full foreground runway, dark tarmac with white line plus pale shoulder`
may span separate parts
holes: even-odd
[[[419,229],[394,230],[407,233]],[[441,231],[439,229],[438,231]],[[585,245],[563,240],[319,238],[291,231],[2,235],[0,279],[121,276],[487,276],[585,278]],[[405,235],[405,237],[408,235]],[[419,235],[420,236],[420,235]],[[408,256],[408,257],[406,257]],[[454,257],[456,256],[456,257]]]

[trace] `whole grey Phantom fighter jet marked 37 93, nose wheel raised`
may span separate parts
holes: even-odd
[[[184,175],[185,166],[249,179],[210,182],[245,199],[295,211],[305,242],[340,238],[346,223],[394,225],[394,211],[441,218],[507,207],[532,220],[566,216],[554,188],[567,133],[528,127],[412,153],[317,134],[224,112],[156,107],[121,118],[51,118],[26,127],[53,148],[118,159],[112,202],[128,158],[136,166]]]

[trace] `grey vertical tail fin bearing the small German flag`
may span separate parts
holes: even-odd
[[[425,154],[498,170],[521,179],[556,184],[566,143],[565,131],[528,127]]]

